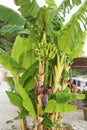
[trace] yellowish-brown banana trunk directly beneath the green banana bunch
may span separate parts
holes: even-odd
[[[39,117],[39,108],[42,106],[42,93],[39,93],[38,89],[44,84],[44,61],[39,62],[39,74],[36,81],[36,114]],[[35,122],[35,128],[33,130],[43,130],[43,125],[39,120]]]

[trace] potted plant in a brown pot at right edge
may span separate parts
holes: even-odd
[[[82,93],[85,95],[83,101],[83,112],[84,112],[84,119],[87,121],[87,90],[83,90]]]

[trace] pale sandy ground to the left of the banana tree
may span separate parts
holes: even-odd
[[[0,85],[0,130],[20,130],[20,122],[14,120],[17,109],[9,102],[6,90],[10,88],[7,83],[2,82]]]

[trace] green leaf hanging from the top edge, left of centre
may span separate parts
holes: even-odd
[[[19,11],[21,14],[28,19],[28,21],[33,20],[37,17],[38,12],[40,10],[39,5],[36,0],[14,0],[16,5],[20,6]]]

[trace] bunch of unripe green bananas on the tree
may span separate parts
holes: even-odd
[[[55,44],[41,42],[38,43],[37,48],[35,49],[35,55],[37,60],[45,59],[51,60],[57,54],[57,47]]]

